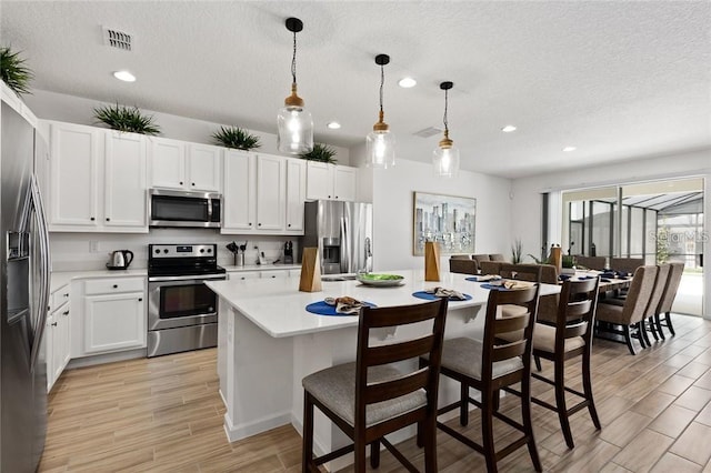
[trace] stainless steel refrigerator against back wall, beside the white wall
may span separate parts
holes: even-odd
[[[301,248],[319,249],[321,274],[373,269],[373,207],[370,203],[307,202]]]

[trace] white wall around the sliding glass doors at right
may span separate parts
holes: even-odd
[[[705,178],[704,228],[707,242],[704,254],[711,253],[711,150],[693,151],[667,157],[623,161],[574,171],[548,173],[513,181],[511,232],[521,235],[523,252],[540,250],[541,193],[584,189],[600,185],[668,180],[684,177]],[[560,225],[559,225],[560,227]],[[560,229],[558,229],[560,234]],[[550,244],[551,242],[549,242]],[[538,254],[538,253],[533,253]],[[703,316],[711,319],[711,266],[707,263],[704,276]]]

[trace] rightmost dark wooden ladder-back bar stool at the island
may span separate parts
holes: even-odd
[[[599,278],[563,282],[555,325],[537,323],[533,328],[533,359],[539,366],[539,371],[540,359],[553,362],[553,379],[551,380],[535,372],[531,376],[554,386],[555,404],[553,405],[535,396],[531,397],[531,402],[558,412],[563,437],[569,449],[575,446],[569,420],[575,412],[588,407],[595,429],[602,429],[592,396],[592,379],[590,375],[592,332],[599,286]],[[510,340],[505,334],[502,338]],[[565,364],[569,360],[580,356],[582,356],[580,370],[583,385],[582,392],[565,385]],[[511,388],[505,388],[504,391],[521,395],[520,391]],[[567,392],[580,397],[581,401],[568,406],[565,401]]]

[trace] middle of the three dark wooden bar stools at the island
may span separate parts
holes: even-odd
[[[442,350],[441,374],[460,383],[460,399],[441,407],[438,414],[459,409],[459,422],[469,423],[469,404],[481,411],[482,443],[438,421],[438,427],[464,445],[484,455],[487,470],[497,471],[497,462],[528,445],[535,471],[541,471],[541,462],[535,447],[531,424],[531,336],[538,311],[540,285],[532,288],[497,291],[489,293],[484,320],[483,341],[457,338],[447,340]],[[498,318],[503,304],[523,304],[528,311],[521,315]],[[500,336],[510,333],[512,339]],[[422,360],[425,363],[427,360]],[[499,391],[504,386],[521,383],[521,422],[498,411]],[[470,388],[479,391],[481,401],[470,395]],[[494,399],[495,397],[495,399]],[[507,446],[497,450],[493,437],[493,420],[498,419],[521,433]]]

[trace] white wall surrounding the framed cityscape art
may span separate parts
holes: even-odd
[[[392,169],[360,172],[372,179],[374,270],[424,268],[424,259],[412,255],[414,191],[477,199],[475,252],[511,254],[510,180],[468,171],[448,180],[434,177],[430,164],[403,159]],[[448,259],[441,258],[444,269]]]

